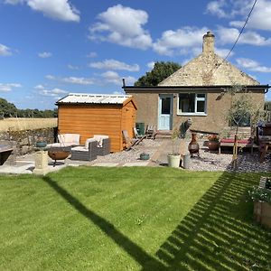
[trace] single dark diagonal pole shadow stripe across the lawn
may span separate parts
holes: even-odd
[[[118,231],[112,223],[100,217],[93,210],[89,210],[79,200],[62,188],[57,182],[52,181],[49,176],[43,176],[42,180],[48,183],[55,192],[58,192],[61,197],[70,203],[75,210],[78,210],[81,215],[98,226],[98,228],[107,234],[107,236],[111,238],[120,248],[123,248],[127,254],[133,257],[139,265],[145,266],[148,262],[150,262],[151,266],[154,266],[154,268],[157,270],[164,269],[164,265],[159,261],[159,259],[148,255],[145,250],[140,248],[133,241]]]

